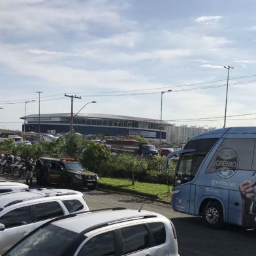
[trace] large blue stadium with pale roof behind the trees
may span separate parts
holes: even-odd
[[[32,114],[25,119],[25,131],[39,131],[39,116]],[[69,133],[71,129],[71,114],[40,114],[41,133]],[[162,140],[167,139],[167,121],[162,121]],[[132,116],[116,116],[108,114],[78,114],[74,117],[74,132],[82,135],[105,136],[144,136],[145,138],[160,138],[160,121],[149,118],[136,118]],[[22,126],[24,131],[24,125]]]

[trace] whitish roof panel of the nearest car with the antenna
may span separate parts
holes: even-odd
[[[101,225],[103,223],[113,223],[120,219],[141,219],[142,217],[163,217],[161,214],[155,212],[149,212],[142,210],[121,209],[121,210],[102,210],[99,212],[85,212],[82,214],[76,214],[75,216],[65,217],[56,221],[52,221],[52,224],[62,227],[63,229],[69,229],[70,231],[80,233],[93,226]]]

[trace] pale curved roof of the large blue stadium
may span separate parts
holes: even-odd
[[[70,117],[70,113],[56,113],[56,114],[40,114],[40,118],[67,118]],[[152,119],[152,118],[138,118],[134,116],[119,116],[119,115],[110,115],[110,114],[94,114],[94,113],[81,113],[78,114],[80,118],[99,118],[106,120],[128,120],[128,121],[142,121],[148,123],[160,123],[160,120]],[[22,116],[21,119],[27,118],[38,118],[38,114],[27,115],[26,117]],[[168,121],[163,121],[162,123],[165,125],[172,125],[168,123]]]

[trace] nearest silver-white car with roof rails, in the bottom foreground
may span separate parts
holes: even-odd
[[[1,231],[0,231],[1,232]],[[52,219],[5,256],[178,255],[172,222],[155,212],[112,208]]]

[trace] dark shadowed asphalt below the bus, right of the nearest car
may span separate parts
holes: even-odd
[[[224,229],[210,229],[200,217],[172,218],[178,236],[178,248],[182,256],[241,256],[255,255],[256,231],[235,225]]]

